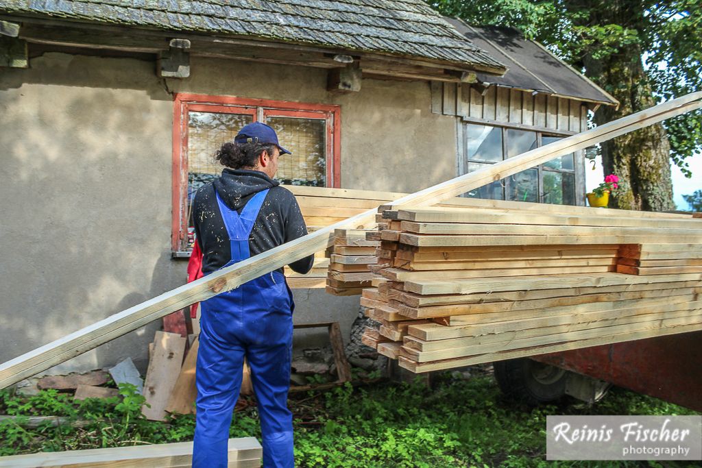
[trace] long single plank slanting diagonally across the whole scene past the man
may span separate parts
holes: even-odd
[[[397,199],[392,206],[411,203],[414,207],[439,203],[452,196],[458,196],[468,190],[482,187],[487,182],[508,177],[526,168],[538,166],[562,154],[569,154],[594,143],[602,142],[623,135],[637,128],[670,117],[690,112],[702,107],[702,93],[691,93],[683,98],[664,102],[642,112],[623,117],[616,121],[592,128],[578,135],[564,138],[550,145],[534,149],[514,158],[489,165],[479,171],[462,175],[428,189]],[[540,159],[541,158],[541,159]],[[0,388],[46,370],[71,359],[90,349],[113,340],[131,330],[136,330],[147,323],[166,314],[187,307],[194,302],[206,300],[224,290],[230,290],[241,283],[258,278],[262,274],[288,265],[290,262],[324,250],[330,245],[330,234],[334,229],[362,225],[373,222],[376,210],[369,210],[353,218],[324,227],[318,231],[278,246],[267,252],[218,270],[204,278],[187,283],[180,288],[168,291],[151,300],[135,305],[122,312],[102,319],[91,326],[81,328],[74,333],[55,340],[11,359],[0,366]],[[608,241],[605,241],[608,242]],[[681,241],[681,243],[687,243]],[[692,241],[693,243],[695,241]],[[633,275],[628,275],[633,276]]]

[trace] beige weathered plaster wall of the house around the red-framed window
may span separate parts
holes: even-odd
[[[343,187],[412,192],[456,173],[455,118],[430,112],[426,82],[364,79],[338,94],[321,69],[192,58],[191,70],[161,80],[149,60],[64,53],[2,70],[0,361],[184,282],[186,262],[170,251],[173,92],[340,105]],[[357,297],[295,298],[296,323],[338,320],[348,336]],[[160,326],[52,372],[126,356],[144,369]],[[326,340],[311,333],[296,345]]]

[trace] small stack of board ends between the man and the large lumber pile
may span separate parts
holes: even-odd
[[[376,248],[380,242],[367,240],[369,232],[367,229],[336,229],[326,279],[327,293],[355,295],[371,286],[376,276],[371,267],[376,265]]]

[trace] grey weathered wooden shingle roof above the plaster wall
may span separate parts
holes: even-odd
[[[0,13],[235,34],[505,69],[421,0],[0,0]]]

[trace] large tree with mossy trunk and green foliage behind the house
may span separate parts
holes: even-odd
[[[518,29],[547,46],[621,102],[600,107],[595,123],[702,89],[702,2],[673,0],[428,0],[472,25]],[[621,208],[673,208],[668,156],[699,152],[702,112],[670,119],[602,145],[605,173],[625,182]],[[666,133],[668,138],[666,138]],[[627,185],[628,182],[628,185]]]

